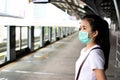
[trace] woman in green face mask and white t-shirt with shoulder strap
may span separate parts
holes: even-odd
[[[82,18],[80,42],[86,44],[76,61],[75,80],[107,80],[110,41],[108,23],[97,15]]]

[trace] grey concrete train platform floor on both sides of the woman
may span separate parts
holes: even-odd
[[[63,38],[0,69],[0,80],[74,80],[75,62],[85,46],[78,33]],[[120,80],[120,68],[115,66],[116,33],[111,35],[108,80]]]

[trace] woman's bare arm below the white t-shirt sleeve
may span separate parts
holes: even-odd
[[[94,69],[97,80],[107,80],[105,71],[103,69]]]

